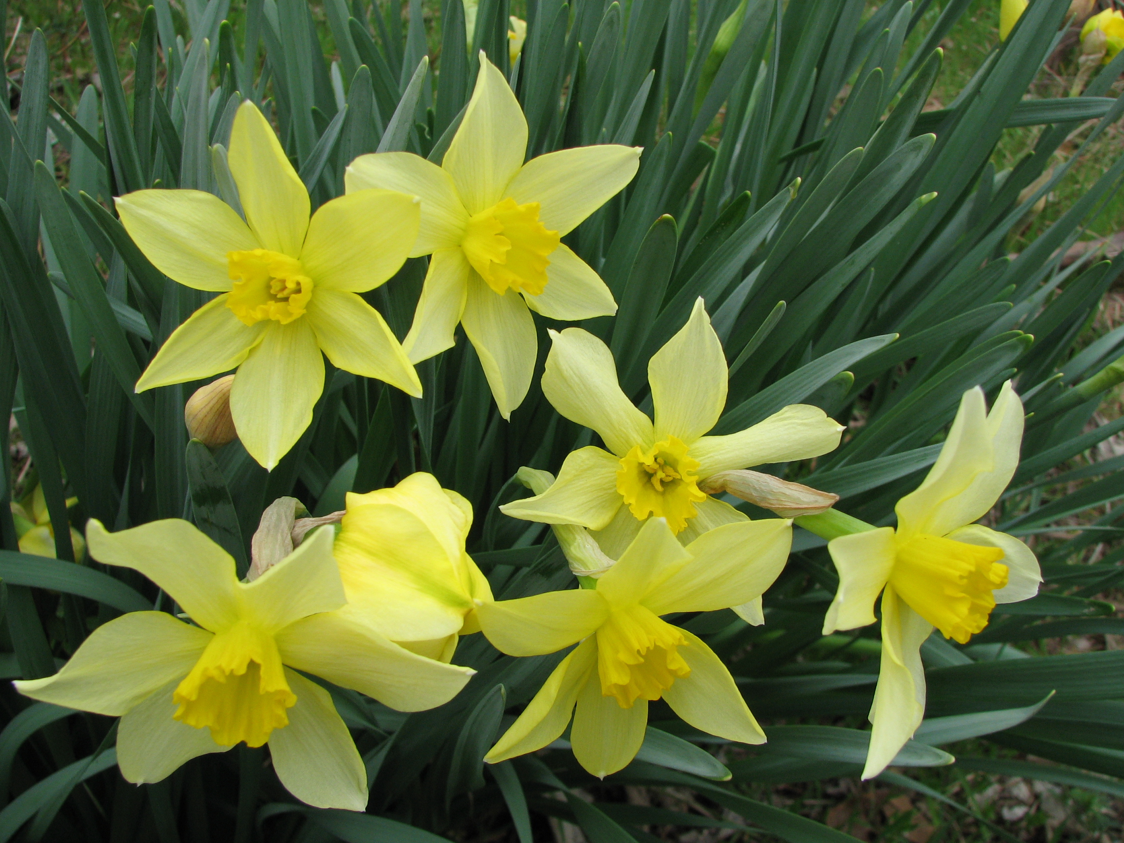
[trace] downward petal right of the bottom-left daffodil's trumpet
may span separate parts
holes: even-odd
[[[270,735],[273,771],[285,790],[316,808],[366,808],[366,768],[332,696],[296,671],[284,672],[297,695],[289,725]]]

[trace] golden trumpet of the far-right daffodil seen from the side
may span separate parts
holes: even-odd
[[[890,584],[909,607],[961,644],[987,626],[991,592],[1007,584],[1003,551],[919,535],[898,546]]]

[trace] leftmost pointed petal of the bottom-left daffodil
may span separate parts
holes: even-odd
[[[133,611],[94,629],[53,677],[17,681],[16,690],[43,703],[118,717],[183,679],[210,640],[210,633],[167,613]]]

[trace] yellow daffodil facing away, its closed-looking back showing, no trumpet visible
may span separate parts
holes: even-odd
[[[402,646],[448,661],[459,635],[480,629],[491,589],[464,552],[472,505],[433,474],[347,493],[335,554],[348,614]]]

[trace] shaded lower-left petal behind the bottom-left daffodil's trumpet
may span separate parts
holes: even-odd
[[[183,764],[209,752],[226,752],[209,728],[194,728],[172,717],[179,707],[172,700],[179,679],[142,700],[117,726],[117,764],[134,785],[163,781]]]

